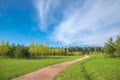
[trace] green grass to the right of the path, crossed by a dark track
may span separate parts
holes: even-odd
[[[120,58],[92,55],[65,68],[54,80],[120,80]]]

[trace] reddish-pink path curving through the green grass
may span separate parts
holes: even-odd
[[[58,64],[54,64],[54,65],[39,69],[37,71],[25,74],[23,76],[14,78],[12,80],[52,80],[53,77],[58,72],[60,72],[62,69],[64,69],[65,67],[67,67],[67,66],[69,66],[69,65],[71,65],[71,64],[73,64],[75,62],[86,59],[88,57],[89,56],[85,56],[83,58],[79,58],[79,59],[76,59],[76,60],[66,61],[66,62],[61,62],[61,63],[58,63]]]

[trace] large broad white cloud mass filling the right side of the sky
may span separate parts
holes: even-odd
[[[79,1],[78,1],[79,2]],[[78,3],[76,2],[76,3]],[[64,44],[103,45],[120,34],[120,0],[86,0],[68,6],[52,40]]]

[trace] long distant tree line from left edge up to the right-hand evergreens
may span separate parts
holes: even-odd
[[[59,55],[85,55],[93,52],[102,52],[102,47],[50,47],[48,44],[30,42],[29,46],[10,44],[0,40],[0,56],[13,58],[35,58]]]

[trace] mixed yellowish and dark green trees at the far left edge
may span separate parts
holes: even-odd
[[[24,45],[10,45],[9,42],[0,41],[0,56],[2,57],[15,57],[27,58],[29,57],[28,47]]]

